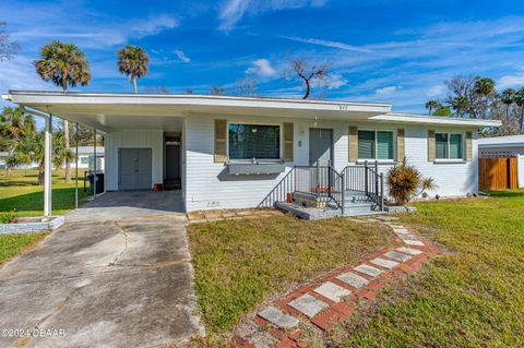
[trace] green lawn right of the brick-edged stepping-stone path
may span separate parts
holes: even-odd
[[[416,204],[403,216],[449,254],[362,307],[334,347],[524,347],[524,191]]]

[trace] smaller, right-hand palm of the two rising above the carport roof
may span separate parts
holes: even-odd
[[[118,70],[129,76],[133,83],[133,92],[138,93],[136,79],[147,74],[147,64],[150,57],[142,47],[128,45],[117,52]]]

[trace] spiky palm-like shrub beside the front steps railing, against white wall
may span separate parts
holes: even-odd
[[[434,180],[432,178],[424,178],[417,167],[407,163],[406,157],[390,168],[385,182],[390,196],[397,205],[405,205],[424,191],[437,188]]]

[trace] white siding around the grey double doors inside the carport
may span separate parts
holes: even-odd
[[[106,134],[106,190],[118,190],[118,149],[152,149],[152,187],[164,181],[164,132],[163,131],[121,131]]]

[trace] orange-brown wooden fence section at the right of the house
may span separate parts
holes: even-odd
[[[517,189],[516,157],[478,158],[478,188]]]

